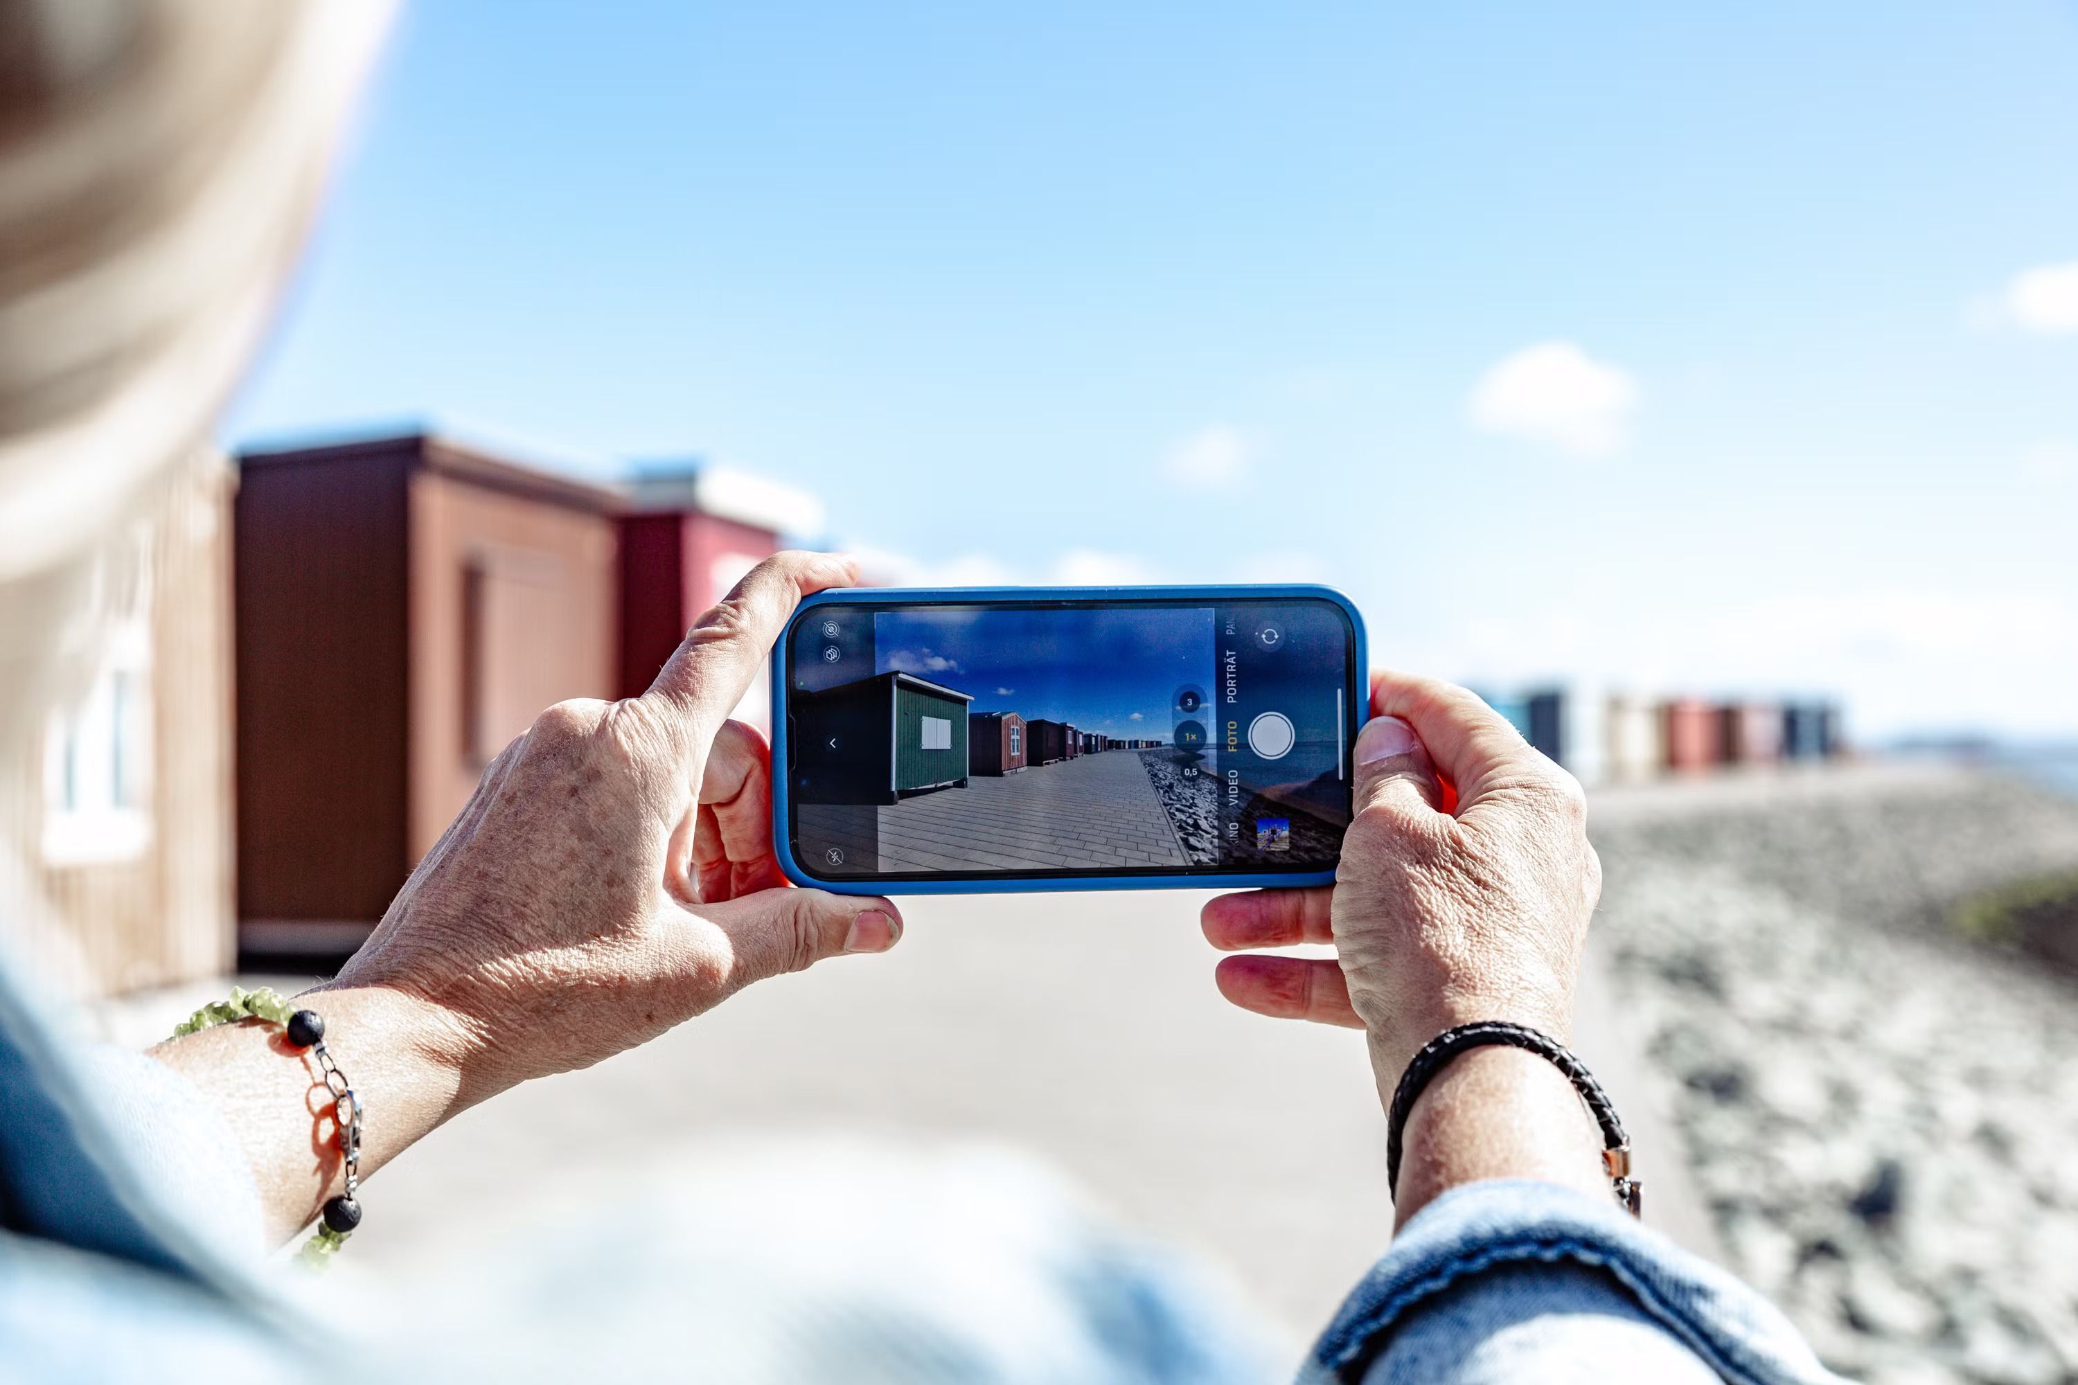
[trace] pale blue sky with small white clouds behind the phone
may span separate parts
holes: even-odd
[[[709,453],[887,577],[2074,733],[2078,6],[1814,8],[420,4],[227,438]]]

